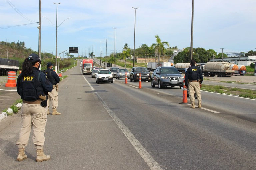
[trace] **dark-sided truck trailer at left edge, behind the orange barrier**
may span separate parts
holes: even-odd
[[[9,71],[17,72],[19,70],[19,61],[7,58],[0,58],[0,75],[8,75]]]

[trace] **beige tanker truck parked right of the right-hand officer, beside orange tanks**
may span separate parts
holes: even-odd
[[[235,70],[232,70],[231,64],[228,62],[207,62],[203,65],[203,74],[204,76],[214,77],[231,77],[234,75]]]

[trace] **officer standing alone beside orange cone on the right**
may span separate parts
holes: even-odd
[[[189,96],[190,96],[190,108],[195,108],[195,96],[197,95],[198,108],[201,108],[201,92],[200,88],[202,87],[203,74],[199,67],[196,67],[196,61],[192,59],[190,61],[190,67],[187,69],[185,74],[185,86],[189,87]]]

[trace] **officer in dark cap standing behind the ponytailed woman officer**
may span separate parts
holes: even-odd
[[[51,62],[48,62],[46,64],[47,69],[45,70],[45,74],[47,78],[50,80],[50,82],[53,85],[52,92],[48,93],[48,100],[47,100],[47,106],[48,106],[48,111],[47,114],[50,114],[49,112],[49,107],[50,107],[50,102],[52,101],[52,115],[60,115],[60,112],[57,112],[57,107],[58,107],[58,85],[57,83],[60,82],[60,77],[58,74],[52,70],[53,64]]]

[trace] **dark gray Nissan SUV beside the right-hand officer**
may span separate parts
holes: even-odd
[[[175,67],[157,67],[151,76],[151,87],[158,85],[159,89],[165,86],[183,86],[184,76]]]

